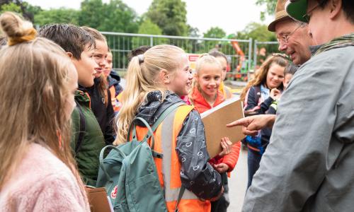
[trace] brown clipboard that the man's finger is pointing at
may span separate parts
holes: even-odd
[[[226,124],[244,117],[242,101],[239,97],[230,98],[206,112],[200,114],[205,129],[207,152],[214,158],[222,151],[220,141],[229,137],[232,143],[244,139],[242,126],[227,127]]]

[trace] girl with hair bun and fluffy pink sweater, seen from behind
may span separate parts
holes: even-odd
[[[89,211],[69,144],[74,65],[14,13],[0,23],[0,211]]]

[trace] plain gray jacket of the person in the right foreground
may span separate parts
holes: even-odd
[[[297,71],[242,211],[354,211],[353,53],[331,49]]]

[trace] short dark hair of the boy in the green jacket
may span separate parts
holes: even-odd
[[[81,59],[85,47],[96,47],[94,38],[76,25],[67,23],[48,24],[40,28],[40,37],[54,41],[75,59]]]

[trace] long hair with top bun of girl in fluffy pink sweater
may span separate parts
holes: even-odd
[[[32,31],[28,30],[32,25],[14,13],[3,13],[0,23],[8,40]],[[28,146],[38,143],[69,167],[86,195],[70,148],[70,120],[63,116],[67,95],[72,92],[68,88],[72,69],[64,50],[45,38],[18,39],[18,43],[1,48],[0,190]]]

